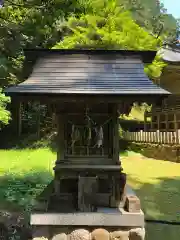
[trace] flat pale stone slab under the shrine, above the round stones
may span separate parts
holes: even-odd
[[[144,214],[123,208],[98,208],[97,212],[33,213],[31,225],[143,227]]]

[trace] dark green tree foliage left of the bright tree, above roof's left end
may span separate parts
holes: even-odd
[[[78,2],[78,1],[77,1]],[[7,0],[0,8],[0,87],[21,82],[25,48],[49,48],[81,7],[71,0]]]

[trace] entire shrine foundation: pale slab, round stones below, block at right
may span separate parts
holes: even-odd
[[[123,206],[98,207],[96,212],[32,212],[33,240],[144,240],[140,200],[127,185],[124,199]]]

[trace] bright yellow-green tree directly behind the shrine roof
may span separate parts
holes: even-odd
[[[71,16],[67,27],[71,33],[54,49],[157,50],[161,44],[161,38],[141,28],[116,0],[94,3],[90,14]],[[149,76],[158,77],[163,66],[157,57],[145,71]]]

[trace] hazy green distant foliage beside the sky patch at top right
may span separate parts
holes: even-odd
[[[168,41],[176,38],[177,20],[171,14],[167,14],[167,10],[159,0],[122,0],[122,2],[141,27],[155,36],[161,32]]]

